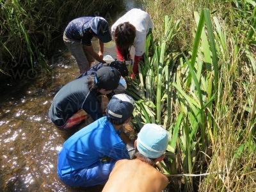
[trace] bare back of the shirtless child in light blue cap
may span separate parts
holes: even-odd
[[[124,182],[120,182],[120,178]],[[167,177],[150,164],[139,159],[124,159],[116,162],[102,192],[155,192],[163,191],[167,185]]]

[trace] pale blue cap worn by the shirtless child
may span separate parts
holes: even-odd
[[[164,154],[170,134],[157,124],[145,124],[137,139],[137,149],[145,157],[156,159]]]

